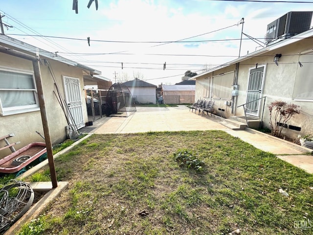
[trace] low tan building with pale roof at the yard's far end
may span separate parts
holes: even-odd
[[[164,104],[191,104],[195,102],[196,85],[162,85]]]

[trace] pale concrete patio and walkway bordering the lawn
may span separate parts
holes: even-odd
[[[117,134],[150,131],[222,130],[256,148],[273,153],[278,158],[313,173],[313,156],[304,155],[304,153],[312,152],[312,149],[249,128],[230,130],[218,121],[220,121],[220,117],[206,115],[202,117],[192,113],[188,107],[183,105],[168,108],[137,107],[137,111],[127,118],[101,118],[95,121],[93,126],[84,127],[80,131],[95,134]]]

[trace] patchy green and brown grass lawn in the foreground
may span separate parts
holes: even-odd
[[[69,188],[20,235],[313,234],[313,175],[223,131],[92,135],[55,166]]]

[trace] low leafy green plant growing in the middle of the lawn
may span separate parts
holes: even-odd
[[[196,154],[187,150],[179,149],[174,153],[174,159],[179,163],[179,166],[195,169],[196,171],[202,171],[204,162],[201,161]]]

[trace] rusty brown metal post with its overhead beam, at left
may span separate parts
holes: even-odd
[[[8,47],[3,47],[3,46],[0,46],[0,52],[8,54],[8,55],[13,55],[22,59],[30,60],[33,63],[33,70],[34,70],[34,77],[35,77],[36,86],[37,86],[40,113],[41,113],[41,118],[42,118],[42,123],[43,123],[43,129],[45,133],[45,146],[46,146],[47,155],[48,155],[50,178],[51,178],[52,188],[57,188],[58,183],[57,183],[57,177],[56,177],[55,166],[54,166],[52,142],[50,138],[47,112],[45,108],[45,97],[44,97],[44,91],[43,91],[43,82],[42,82],[41,73],[40,73],[39,56],[37,58],[35,56],[28,55],[23,52],[13,50]]]

